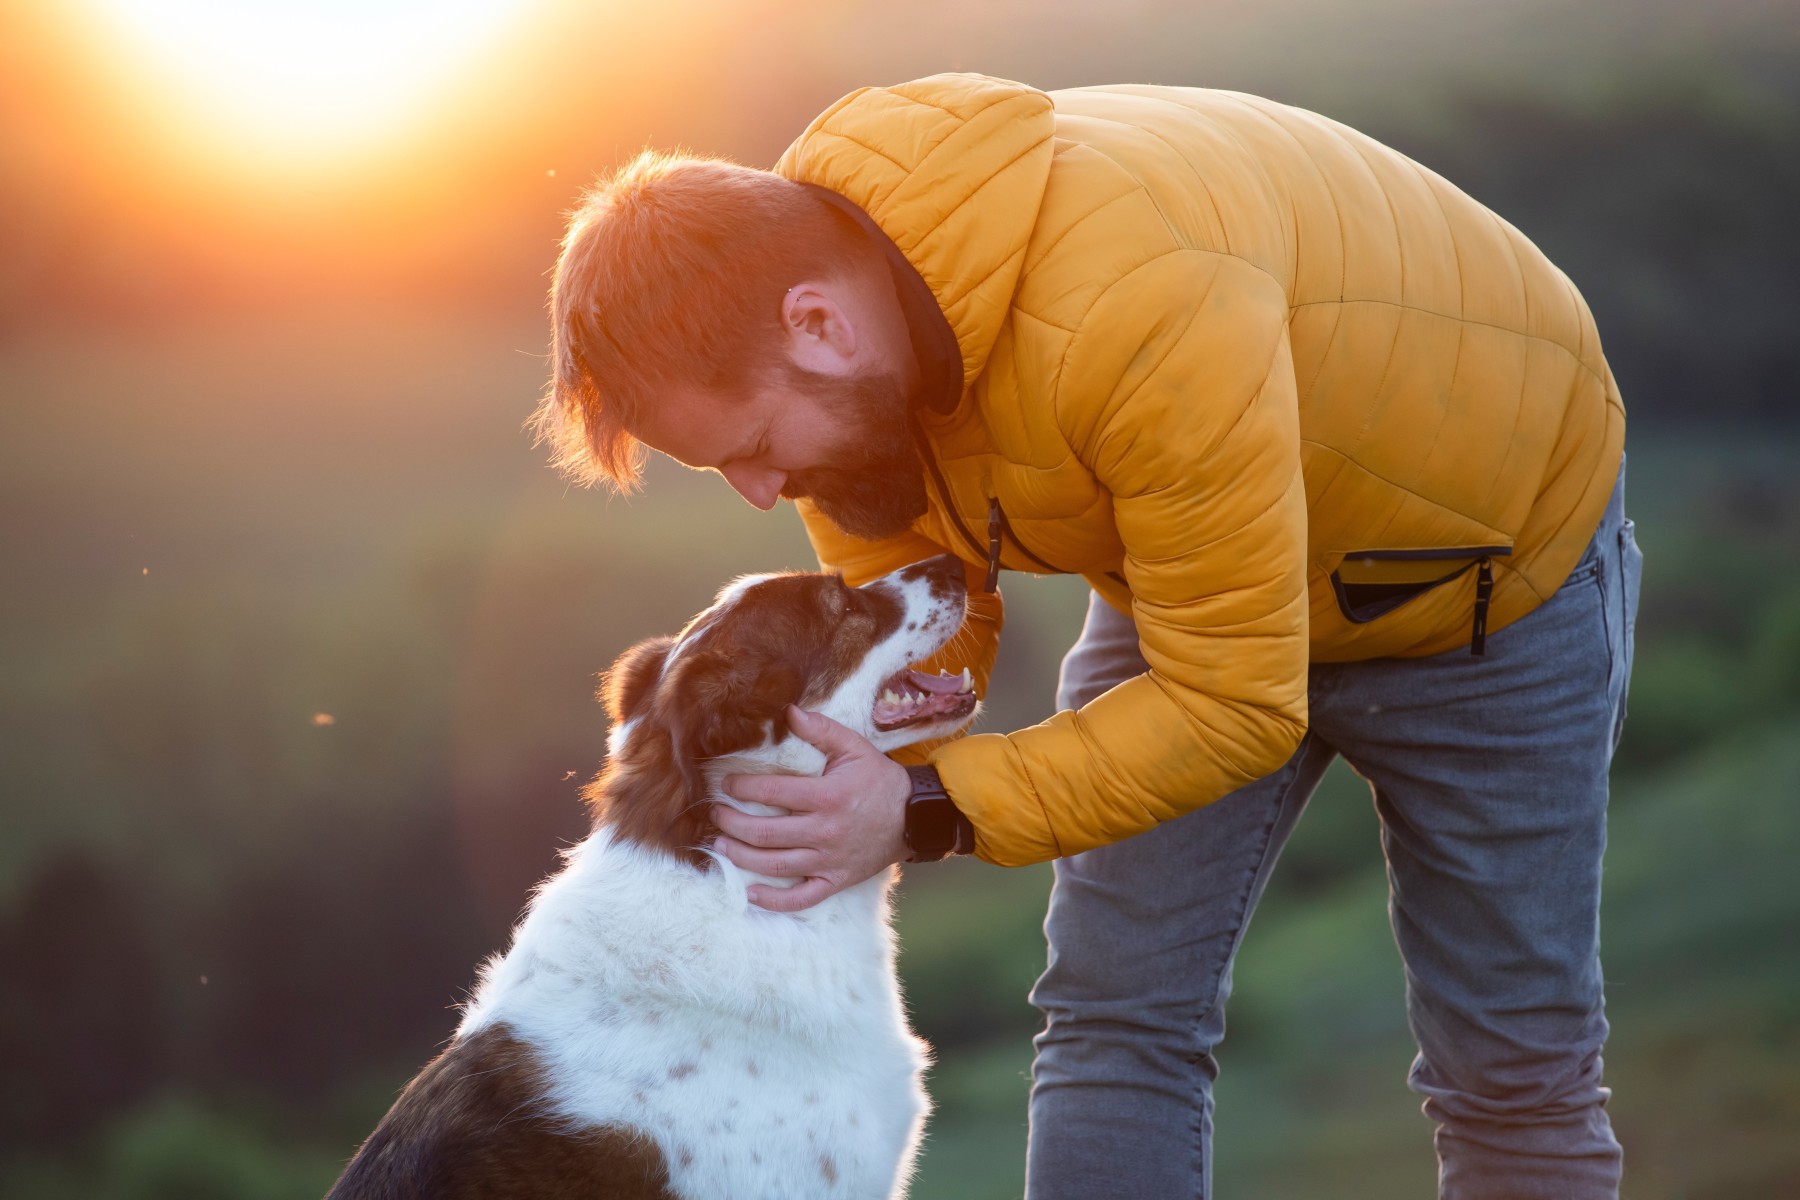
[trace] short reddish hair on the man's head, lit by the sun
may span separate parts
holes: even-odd
[[[630,428],[657,392],[729,394],[774,374],[787,290],[868,263],[878,250],[805,185],[646,149],[569,216],[538,441],[571,479],[635,489],[644,450]]]

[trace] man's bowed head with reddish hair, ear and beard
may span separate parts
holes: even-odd
[[[911,336],[882,246],[812,189],[644,153],[583,196],[551,293],[556,464],[635,488],[643,448],[758,507],[878,538],[925,511]]]

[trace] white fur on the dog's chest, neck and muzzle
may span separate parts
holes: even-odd
[[[880,682],[949,640],[963,613],[920,579],[869,587],[896,588],[905,619],[819,711],[884,750],[961,725],[873,729]],[[614,732],[614,752],[630,730]],[[709,763],[707,777],[716,792],[731,772],[823,766],[787,736]],[[545,1063],[554,1108],[580,1126],[648,1133],[680,1196],[902,1195],[929,1103],[927,1049],[895,975],[893,871],[774,914],[745,900],[756,876],[713,862],[697,871],[598,829],[486,966],[459,1036],[509,1025]]]

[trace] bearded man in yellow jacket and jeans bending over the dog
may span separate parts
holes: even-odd
[[[754,889],[778,910],[1057,858],[1033,1198],[1206,1195],[1231,959],[1334,754],[1382,817],[1442,1195],[1616,1196],[1597,912],[1640,560],[1593,320],[1517,230],[1269,101],[936,76],[774,173],[628,166],[553,309],[567,470],[630,486],[650,446],[792,498],[851,583],[961,556],[932,666],[985,687],[999,569],[1093,585],[1049,721],[904,770],[792,709],[826,774],[716,815],[796,880]]]

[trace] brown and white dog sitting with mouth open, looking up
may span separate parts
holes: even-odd
[[[860,588],[749,576],[603,676],[608,761],[587,840],[481,972],[450,1045],[328,1200],[900,1196],[927,1047],[895,975],[893,869],[797,914],[709,849],[727,774],[817,775],[787,705],[880,750],[967,727],[968,671],[911,664],[961,628],[941,556]]]

